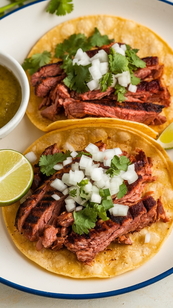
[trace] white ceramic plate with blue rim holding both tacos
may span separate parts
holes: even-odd
[[[67,19],[89,14],[114,14],[133,19],[158,33],[173,48],[173,4],[158,0],[73,0],[74,11],[57,17],[46,13],[47,0],[36,1],[0,20],[0,48],[20,63],[31,47],[52,27]],[[166,2],[166,3],[165,3]],[[25,115],[0,149],[23,152],[43,135]],[[169,151],[173,156],[173,151]],[[173,273],[173,232],[159,253],[136,270],[114,278],[73,279],[52,274],[25,257],[11,240],[0,212],[0,282],[33,294],[56,298],[99,298],[130,292]]]

